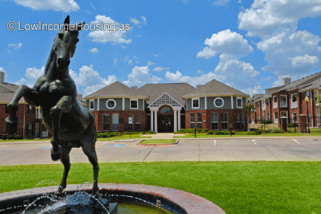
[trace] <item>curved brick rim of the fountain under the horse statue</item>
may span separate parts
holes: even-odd
[[[117,183],[99,183],[99,193],[109,194],[115,199],[140,198],[156,205],[157,200],[161,206],[179,214],[225,214],[224,210],[215,203],[202,198],[198,195],[185,192],[178,189],[172,189],[160,186],[150,186],[143,184],[117,184]],[[57,186],[39,187],[34,189],[24,189],[0,194],[0,213],[9,213],[9,209],[21,209],[24,201],[35,200],[41,195],[54,194]],[[73,193],[76,191],[92,191],[92,184],[71,184],[67,185],[65,192]],[[16,207],[16,208],[15,208]]]

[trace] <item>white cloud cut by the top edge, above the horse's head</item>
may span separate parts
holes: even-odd
[[[74,0],[13,0],[17,5],[22,5],[37,11],[63,11],[69,13],[80,8]]]

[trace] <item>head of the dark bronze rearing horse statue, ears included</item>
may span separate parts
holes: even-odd
[[[81,26],[75,26],[74,29],[69,29],[69,16],[64,22],[65,28],[60,31],[54,41],[53,50],[57,56],[57,68],[59,70],[67,67],[70,63],[70,58],[73,57],[78,39],[78,29]]]

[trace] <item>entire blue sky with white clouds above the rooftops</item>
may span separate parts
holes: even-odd
[[[57,31],[9,31],[7,23],[130,24],[129,31],[80,31],[69,65],[78,93],[116,80],[128,85],[212,79],[246,92],[320,71],[320,1],[0,2],[0,71],[32,86]]]

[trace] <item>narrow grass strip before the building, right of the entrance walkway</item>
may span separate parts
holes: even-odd
[[[207,135],[205,133],[196,133],[196,138],[230,138],[231,135]],[[232,135],[232,138],[240,137],[321,137],[321,133],[262,133],[261,135]],[[174,138],[195,138],[195,134],[185,134],[185,136],[175,136]]]

